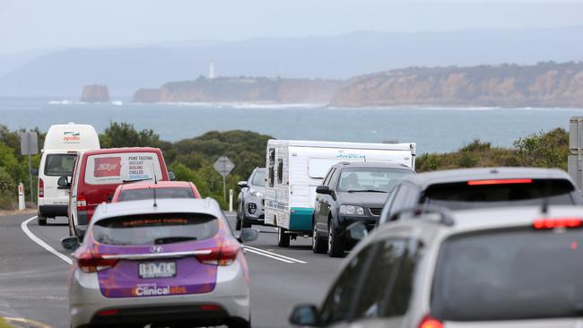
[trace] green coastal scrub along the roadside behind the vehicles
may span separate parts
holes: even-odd
[[[39,146],[44,133],[39,134]],[[0,209],[10,210],[16,204],[16,188],[23,182],[26,194],[29,190],[28,158],[20,155],[18,134],[0,125]],[[219,201],[223,208],[228,203],[222,198],[222,177],[214,170],[214,162],[221,156],[229,157],[235,168],[227,176],[227,189],[238,193],[237,182],[245,180],[253,168],[265,165],[265,147],[271,137],[250,131],[212,131],[206,134],[167,142],[150,129],[138,131],[134,125],[111,123],[100,134],[102,148],[110,147],[158,147],[164,153],[169,169],[178,180],[192,181],[203,196]],[[548,133],[539,132],[518,139],[511,148],[494,147],[490,142],[466,144],[458,151],[429,153],[417,158],[417,172],[448,168],[474,167],[541,167],[567,169],[569,135],[561,128]],[[32,157],[32,167],[39,168],[40,155]],[[35,177],[36,178],[36,177]],[[36,180],[34,188],[36,189]],[[36,190],[35,190],[36,194]],[[28,198],[27,198],[28,199]]]

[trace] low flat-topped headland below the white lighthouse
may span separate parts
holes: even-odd
[[[327,103],[341,82],[335,80],[215,78],[169,82],[140,89],[135,102],[275,102]]]

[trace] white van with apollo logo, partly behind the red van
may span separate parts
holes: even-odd
[[[39,225],[48,218],[67,216],[69,191],[57,186],[59,177],[73,175],[74,161],[83,151],[100,149],[100,139],[91,125],[51,125],[39,165]]]

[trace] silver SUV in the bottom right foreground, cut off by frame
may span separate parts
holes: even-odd
[[[583,326],[583,208],[410,216],[412,220],[383,225],[363,240],[345,260],[323,303],[296,306],[291,323]]]

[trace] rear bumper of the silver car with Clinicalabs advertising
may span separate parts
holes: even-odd
[[[193,326],[197,323],[221,325],[232,320],[247,321],[249,319],[249,288],[244,270],[240,261],[220,267],[215,288],[210,293],[105,298],[101,294],[97,274],[80,272],[74,268],[69,289],[71,325],[73,327],[110,327],[119,323],[120,326],[126,327],[135,324],[144,326],[145,324],[188,322],[192,323],[190,326]],[[202,305],[219,306],[219,309],[203,311]],[[99,315],[104,310],[117,310],[119,315]],[[123,321],[117,320],[121,315],[124,317],[119,320]]]

